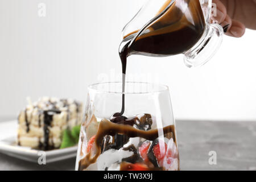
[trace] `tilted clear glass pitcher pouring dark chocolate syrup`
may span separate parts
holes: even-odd
[[[211,12],[211,0],[148,0],[123,28],[122,42],[129,42],[129,55],[183,53],[185,65],[199,67],[216,53],[224,34],[219,24],[209,23]]]

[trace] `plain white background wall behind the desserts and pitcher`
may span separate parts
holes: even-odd
[[[142,2],[0,0],[0,117],[17,115],[27,96],[84,101],[88,84],[105,75],[117,80],[121,30]],[[186,68],[182,55],[131,56],[127,72],[168,85],[177,119],[256,120],[255,40],[251,30],[241,39],[225,36],[212,61],[197,69]]]

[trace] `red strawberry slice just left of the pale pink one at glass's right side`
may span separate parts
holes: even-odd
[[[163,159],[166,156],[167,144],[163,140],[159,140],[158,144],[153,147],[155,158],[159,167],[163,166]]]

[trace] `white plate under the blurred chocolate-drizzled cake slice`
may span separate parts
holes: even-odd
[[[18,121],[0,122],[0,152],[14,158],[38,163],[40,156],[46,156],[46,163],[59,160],[74,158],[77,152],[77,146],[63,149],[56,149],[42,153],[40,150],[34,150],[30,147],[17,146],[16,132]]]

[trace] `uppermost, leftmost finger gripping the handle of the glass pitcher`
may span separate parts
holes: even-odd
[[[222,23],[226,18],[226,7],[223,5],[223,3],[219,0],[213,0],[213,16],[211,17],[212,21],[214,23]],[[214,10],[214,8],[217,8]]]

